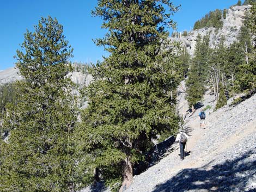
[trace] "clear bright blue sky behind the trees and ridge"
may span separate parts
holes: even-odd
[[[178,30],[190,30],[194,22],[215,9],[229,8],[237,0],[174,0],[181,4],[180,10],[173,16]],[[242,1],[243,2],[243,1]],[[106,30],[101,29],[102,20],[92,17],[91,10],[97,0],[9,0],[1,1],[0,6],[0,70],[15,66],[13,56],[19,44],[24,41],[26,29],[33,31],[41,17],[56,17],[64,26],[64,35],[74,48],[72,61],[96,63],[102,55],[108,55],[103,47],[97,47],[92,39],[101,38]]]

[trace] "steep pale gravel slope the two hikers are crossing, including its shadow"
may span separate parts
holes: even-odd
[[[214,105],[211,95],[204,101]],[[236,107],[206,110],[205,129],[198,113],[187,119],[186,158],[179,159],[178,144],[170,146],[168,156],[135,176],[126,192],[256,191],[256,95]]]

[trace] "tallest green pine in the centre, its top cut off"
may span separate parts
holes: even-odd
[[[168,0],[100,0],[93,12],[108,29],[96,44],[110,55],[95,66],[85,91],[89,107],[79,148],[92,154],[105,181],[123,180],[120,191],[131,184],[133,164],[151,140],[178,127],[175,90],[182,72],[167,48],[166,30],[175,10]]]

